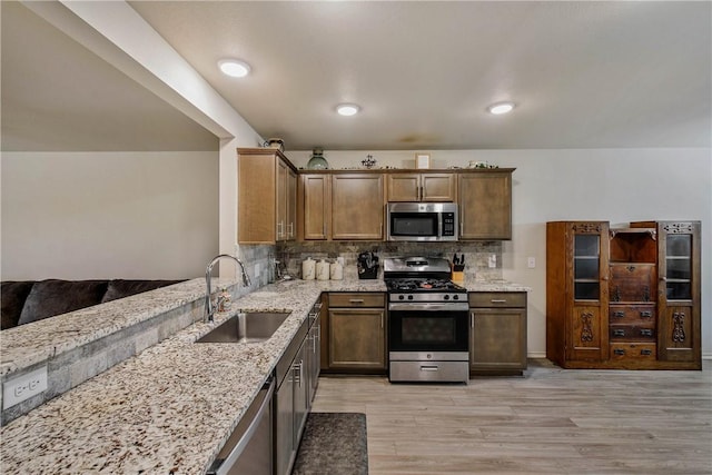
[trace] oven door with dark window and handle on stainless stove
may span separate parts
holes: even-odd
[[[388,352],[467,352],[468,307],[462,304],[388,305]]]

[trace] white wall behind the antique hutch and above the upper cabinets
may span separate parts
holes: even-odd
[[[528,352],[546,352],[546,221],[597,219],[702,221],[702,353],[712,358],[712,155],[710,149],[429,150],[433,168],[471,160],[514,167],[513,239],[503,249],[504,278],[532,288]],[[329,151],[332,168],[359,167],[370,154],[377,166],[409,168],[414,151]],[[309,151],[288,151],[305,167]],[[536,267],[527,268],[527,257]]]

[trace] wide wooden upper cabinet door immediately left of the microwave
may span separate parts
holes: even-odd
[[[383,239],[383,175],[332,176],[332,239]]]

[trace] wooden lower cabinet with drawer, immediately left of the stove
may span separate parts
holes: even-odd
[[[329,293],[325,373],[384,374],[386,360],[385,295]]]

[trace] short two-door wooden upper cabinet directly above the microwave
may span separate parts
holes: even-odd
[[[387,201],[455,201],[455,174],[386,174]]]

